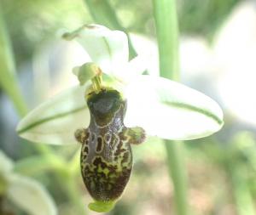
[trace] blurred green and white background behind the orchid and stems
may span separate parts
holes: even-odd
[[[15,54],[20,91],[30,109],[75,82],[71,68],[82,56],[61,41],[61,33],[94,22],[85,2],[1,0],[3,19]],[[152,56],[148,54],[149,57],[155,59],[152,68],[157,68],[151,1],[112,0],[110,3],[120,24],[131,32],[137,53],[150,50]],[[256,110],[256,91],[252,82],[256,69],[253,65],[256,54],[255,3],[178,0],[177,10],[182,82],[218,100],[225,116],[224,128],[219,133],[185,142],[190,213],[256,214],[256,116],[253,111]],[[38,155],[34,144],[17,137],[15,126],[19,116],[1,88],[0,109],[0,149],[15,161]],[[67,161],[79,149],[79,146],[50,147]],[[133,152],[135,164],[131,180],[122,199],[109,214],[175,214],[162,141],[148,139],[133,147]],[[79,166],[79,161],[77,163]],[[67,177],[65,173],[60,179],[55,170],[37,172],[31,166],[21,168],[20,172],[45,185],[61,215],[80,214],[61,184]],[[79,167],[74,179],[85,211],[90,196],[79,177]],[[15,212],[25,214],[19,208],[15,208]]]

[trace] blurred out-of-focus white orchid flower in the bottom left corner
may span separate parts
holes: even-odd
[[[0,201],[11,201],[30,215],[57,214],[55,203],[44,187],[32,178],[15,173],[15,163],[1,150],[0,163]],[[4,208],[0,208],[0,213],[5,214]]]

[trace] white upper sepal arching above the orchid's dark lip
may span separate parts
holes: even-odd
[[[91,61],[107,74],[121,72],[129,59],[127,36],[102,25],[84,25],[75,31],[76,40],[90,55]]]

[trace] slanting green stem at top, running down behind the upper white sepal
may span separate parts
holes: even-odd
[[[132,46],[131,38],[125,28],[120,24],[117,14],[115,13],[109,1],[84,0],[84,3],[86,3],[91,17],[97,24],[105,25],[114,30],[125,31],[129,42],[130,59],[136,57],[137,53]]]

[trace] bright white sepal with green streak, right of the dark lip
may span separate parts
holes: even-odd
[[[224,124],[218,104],[205,94],[162,77],[137,76],[126,90],[125,125],[162,139],[198,139]]]

